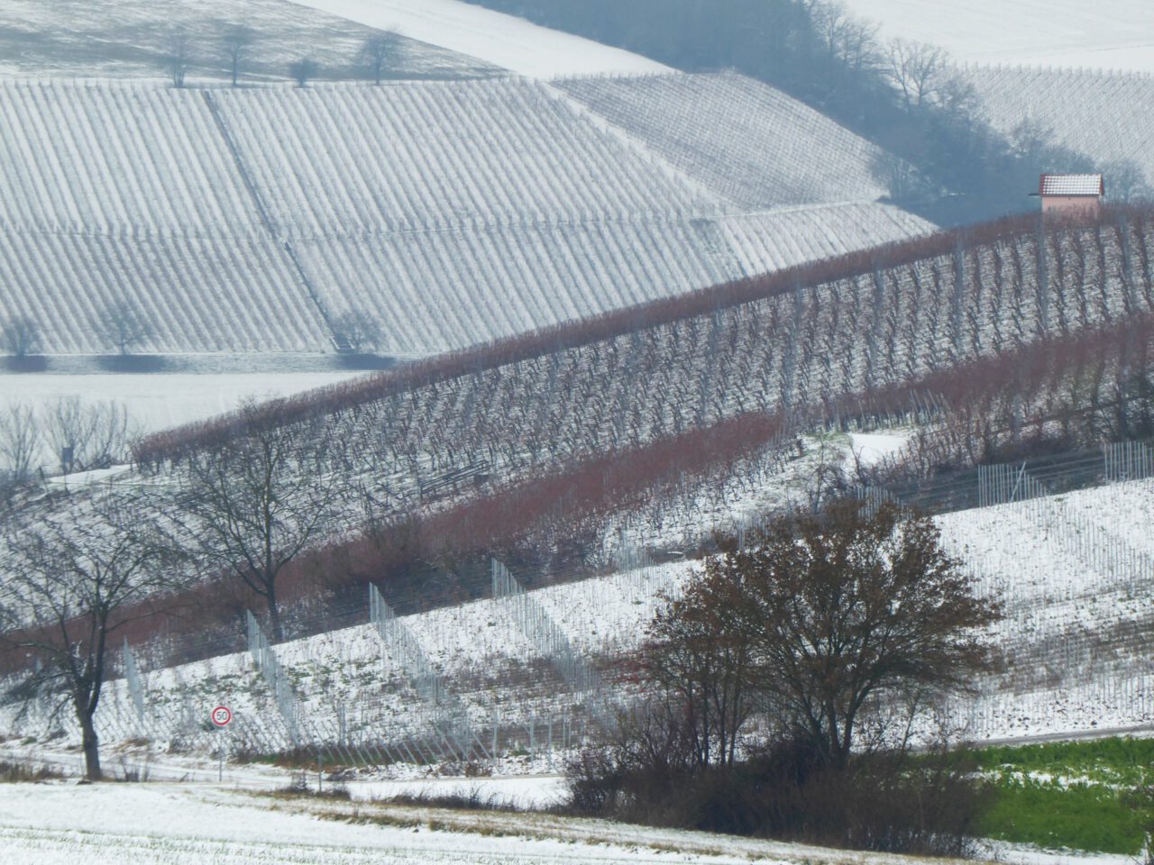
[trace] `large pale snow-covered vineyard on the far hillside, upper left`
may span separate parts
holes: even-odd
[[[725,182],[652,119],[634,135],[527,78],[8,83],[0,298],[46,354],[107,351],[92,321],[113,301],[152,325],[145,353],[327,352],[332,318],[361,308],[381,352],[429,354],[931,228],[877,203],[870,145],[764,84],[704,76],[662,105],[692,113],[718,89]],[[750,104],[788,141],[766,148]],[[742,148],[765,156],[735,163]],[[739,175],[756,201],[732,194]]]

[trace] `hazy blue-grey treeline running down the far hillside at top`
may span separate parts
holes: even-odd
[[[1094,167],[1028,123],[1012,140],[997,134],[943,51],[884,43],[835,0],[470,2],[684,72],[733,68],[772,84],[915,166],[916,178],[885,179],[902,204],[942,225],[1025,210],[1040,172]]]

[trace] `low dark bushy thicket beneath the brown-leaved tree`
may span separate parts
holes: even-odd
[[[635,752],[639,754],[640,752]],[[989,787],[939,751],[853,757],[823,766],[810,745],[782,740],[733,767],[690,767],[586,750],[569,768],[569,808],[651,826],[775,837],[831,847],[964,856]]]

